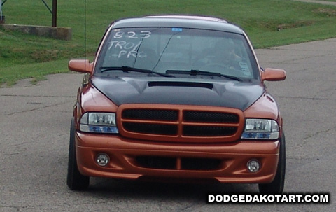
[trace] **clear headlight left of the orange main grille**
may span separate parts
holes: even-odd
[[[118,133],[116,113],[84,113],[80,118],[82,132]]]

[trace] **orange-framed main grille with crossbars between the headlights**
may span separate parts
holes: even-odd
[[[130,104],[117,117],[122,136],[152,141],[235,141],[244,127],[242,111],[234,108]]]

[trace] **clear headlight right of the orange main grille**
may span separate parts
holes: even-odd
[[[247,118],[241,139],[279,139],[279,125],[275,120]]]

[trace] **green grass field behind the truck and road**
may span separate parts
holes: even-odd
[[[52,0],[45,0],[51,7]],[[85,1],[58,1],[57,26],[73,29],[72,41],[30,36],[0,29],[0,84],[21,78],[42,79],[64,73],[67,60],[83,57]],[[94,55],[106,27],[120,17],[197,14],[223,17],[242,27],[255,48],[335,37],[336,7],[290,0],[128,0],[86,1],[86,54]],[[7,1],[6,24],[51,25],[42,1]]]

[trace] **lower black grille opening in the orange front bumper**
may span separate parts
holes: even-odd
[[[135,160],[137,166],[151,169],[204,171],[221,169],[221,160],[216,158],[138,156]]]

